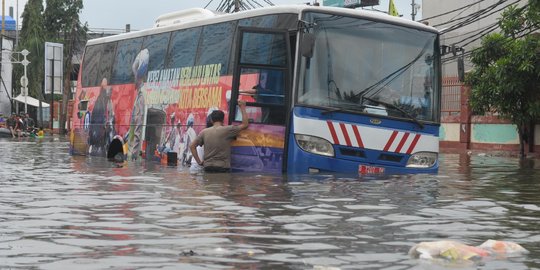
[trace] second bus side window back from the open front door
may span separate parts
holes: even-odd
[[[195,64],[201,27],[176,31],[172,34],[168,68],[189,67]]]

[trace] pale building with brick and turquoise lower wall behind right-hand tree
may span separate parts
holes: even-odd
[[[473,67],[467,55],[478,48],[482,37],[498,31],[498,19],[510,5],[524,6],[528,0],[424,0],[423,22],[441,30],[443,55],[443,96],[441,148],[517,151],[519,138],[516,126],[497,116],[471,115],[469,89],[459,80],[458,63],[463,71]],[[464,57],[462,57],[464,56]],[[528,150],[540,150],[540,125],[531,134]]]

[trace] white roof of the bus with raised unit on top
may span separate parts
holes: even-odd
[[[201,14],[201,19],[196,18],[197,12]],[[172,16],[175,13],[164,14],[158,17],[158,20],[160,18],[167,18],[167,17],[172,18],[172,19],[169,19],[170,20],[169,24],[165,26],[158,26],[158,27],[149,28],[149,29],[140,30],[140,31],[134,31],[130,33],[124,33],[124,34],[119,34],[119,35],[114,35],[114,36],[109,36],[109,37],[92,39],[88,41],[87,45],[106,43],[106,42],[112,42],[112,41],[117,41],[117,40],[129,39],[129,38],[136,38],[136,37],[141,37],[141,36],[147,36],[150,34],[169,32],[169,31],[178,30],[178,29],[186,29],[186,28],[191,28],[191,27],[215,24],[215,23],[220,23],[220,22],[227,22],[227,21],[250,18],[250,17],[263,16],[263,15],[284,14],[284,13],[301,14],[303,12],[322,12],[322,13],[339,14],[339,15],[344,15],[344,16],[371,19],[374,21],[386,22],[386,23],[395,24],[395,25],[402,25],[402,26],[416,28],[416,29],[424,30],[428,32],[434,32],[434,33],[439,32],[437,29],[431,26],[427,26],[423,23],[403,19],[400,17],[390,16],[381,12],[361,10],[361,9],[359,10],[359,9],[349,9],[349,8],[339,8],[339,7],[323,7],[323,6],[308,6],[308,5],[280,5],[280,6],[271,6],[271,7],[263,7],[263,8],[258,8],[258,9],[246,10],[246,11],[241,11],[237,13],[220,14],[220,13],[214,13],[213,11],[198,8],[198,9],[191,9],[191,10],[188,9],[183,12],[180,12],[180,14],[181,13],[186,14],[188,19],[177,20],[177,21],[181,21],[179,23],[175,23],[174,18],[172,18]],[[156,23],[156,25],[157,24],[158,23]]]

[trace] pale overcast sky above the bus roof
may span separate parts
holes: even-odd
[[[215,9],[222,0],[213,0],[209,9]],[[265,1],[257,0],[263,4]],[[270,0],[276,5],[300,4],[310,0]],[[389,0],[380,0],[375,9],[387,11]],[[396,8],[404,18],[411,18],[412,0],[394,0]],[[22,14],[26,0],[5,0],[5,14],[9,15],[9,7],[13,7],[14,17]],[[88,22],[91,29],[124,29],[126,24],[132,30],[152,27],[154,20],[162,14],[194,7],[205,7],[210,0],[84,0],[81,21]],[[311,0],[313,2],[313,0]],[[322,3],[322,0],[319,0]],[[417,0],[421,3],[421,0]],[[421,9],[419,14],[421,14]],[[421,16],[416,17],[418,20]]]

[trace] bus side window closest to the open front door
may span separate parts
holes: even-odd
[[[196,65],[221,64],[220,74],[227,74],[235,28],[236,22],[205,26]]]

